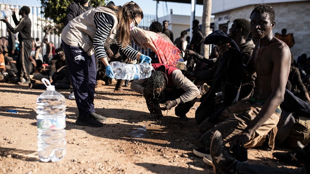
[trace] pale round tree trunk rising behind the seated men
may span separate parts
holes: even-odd
[[[209,35],[211,22],[212,0],[203,0],[202,33],[204,37]],[[200,54],[209,59],[209,45],[201,44]]]

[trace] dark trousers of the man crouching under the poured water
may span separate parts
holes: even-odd
[[[179,98],[181,95],[183,95],[185,91],[183,89],[176,89],[176,88],[166,88],[162,93],[159,95],[153,95],[153,94],[147,94],[143,95],[146,100],[146,105],[148,107],[148,110],[151,114],[161,114],[162,111],[159,109],[159,104],[163,104],[166,101],[171,101]],[[185,102],[185,103],[179,103],[175,107],[175,115],[176,116],[182,116],[188,113],[188,111],[191,109],[191,107],[194,106],[196,102],[196,98]]]

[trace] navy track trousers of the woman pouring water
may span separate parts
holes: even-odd
[[[95,55],[89,56],[82,48],[69,46],[63,40],[64,54],[73,87],[79,117],[95,112],[94,94],[96,84]]]

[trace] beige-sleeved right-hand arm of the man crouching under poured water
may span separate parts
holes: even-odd
[[[172,81],[178,88],[182,88],[185,91],[183,95],[175,99],[177,104],[188,102],[200,94],[196,85],[188,80],[188,78],[184,77],[180,70],[175,70],[172,73]]]

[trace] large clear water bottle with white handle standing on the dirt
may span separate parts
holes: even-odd
[[[66,106],[65,98],[55,91],[49,80],[42,82],[49,84],[47,91],[37,98],[37,127],[38,127],[38,156],[43,162],[59,161],[66,154]]]

